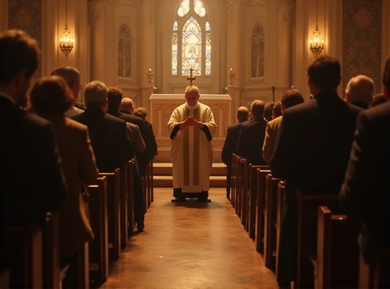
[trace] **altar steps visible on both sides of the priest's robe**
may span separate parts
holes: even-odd
[[[153,163],[153,174],[155,187],[173,187],[172,163]],[[210,187],[226,187],[225,164],[213,164]]]

